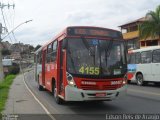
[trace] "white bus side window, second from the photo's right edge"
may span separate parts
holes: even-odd
[[[141,53],[142,63],[151,63],[152,61],[152,52],[146,51]]]

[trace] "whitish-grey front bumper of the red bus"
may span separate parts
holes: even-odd
[[[65,101],[89,101],[89,100],[104,100],[110,101],[117,97],[126,95],[127,85],[116,90],[82,90],[76,87],[67,85],[65,87]],[[105,96],[96,96],[96,94],[105,93]]]

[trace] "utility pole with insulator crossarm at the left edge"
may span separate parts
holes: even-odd
[[[2,11],[2,9],[3,9],[4,7],[8,7],[8,9],[9,9],[10,7],[13,7],[13,9],[14,9],[15,4],[10,5],[9,3],[8,3],[8,4],[3,4],[3,3],[0,2],[0,9],[1,9],[1,11]],[[3,40],[3,39],[1,38],[2,28],[3,28],[3,27],[2,27],[2,23],[0,23],[0,81],[3,80],[3,78],[4,78],[3,64],[2,64],[2,40]]]

